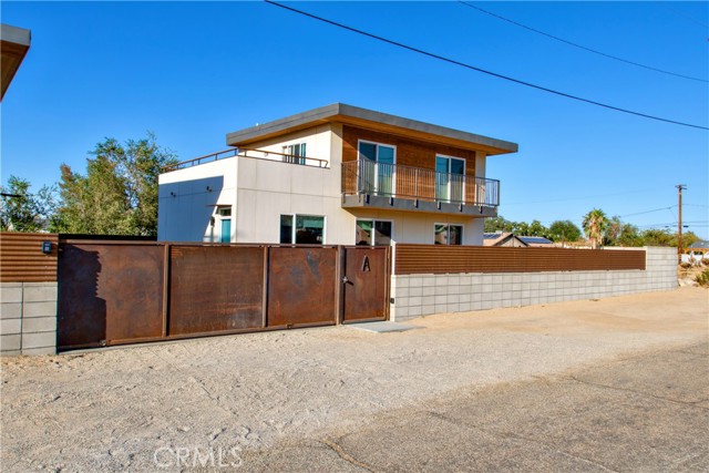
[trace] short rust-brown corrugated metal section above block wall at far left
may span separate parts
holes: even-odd
[[[52,251],[42,253],[42,241]],[[56,280],[56,234],[0,233],[0,282],[49,282]]]

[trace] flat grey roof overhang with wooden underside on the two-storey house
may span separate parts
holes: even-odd
[[[264,123],[263,125],[228,133],[226,135],[226,143],[229,146],[246,146],[255,142],[274,138],[286,133],[297,132],[326,123],[342,123],[429,143],[454,146],[463,150],[484,151],[489,155],[516,153],[518,148],[516,143],[389,115],[387,113],[360,109],[343,103],[333,103]]]

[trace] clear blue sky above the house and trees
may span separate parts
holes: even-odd
[[[459,2],[292,2],[298,9],[565,93],[709,126],[709,88],[572,48]],[[708,2],[480,2],[608,54],[709,79]],[[188,160],[228,132],[343,102],[520,144],[487,160],[500,214],[599,207],[641,229],[709,237],[709,133],[604,110],[448,64],[263,2],[2,2],[32,47],[1,107],[4,183],[85,169],[106,136]]]

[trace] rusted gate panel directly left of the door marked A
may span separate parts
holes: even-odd
[[[337,247],[271,247],[268,327],[337,323]]]

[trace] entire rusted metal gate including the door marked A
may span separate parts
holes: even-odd
[[[58,348],[384,320],[389,254],[60,240]]]

